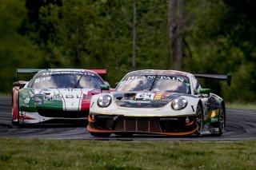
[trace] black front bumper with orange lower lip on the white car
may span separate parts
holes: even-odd
[[[90,113],[89,132],[155,133],[188,135],[197,132],[195,116],[181,117],[127,117]]]

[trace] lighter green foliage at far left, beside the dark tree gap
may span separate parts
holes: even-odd
[[[19,34],[27,10],[23,1],[1,0],[0,6],[0,92],[10,93],[18,66],[37,67],[44,52],[30,38]]]

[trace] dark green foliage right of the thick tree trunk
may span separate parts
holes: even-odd
[[[183,64],[186,69],[197,72],[232,73],[231,87],[213,83],[214,87],[222,87],[217,91],[230,101],[256,100],[256,51],[253,48],[256,22],[251,17],[255,5],[256,2],[250,0],[197,0],[187,6],[186,13],[196,19],[186,22],[184,34],[193,58],[187,58]]]

